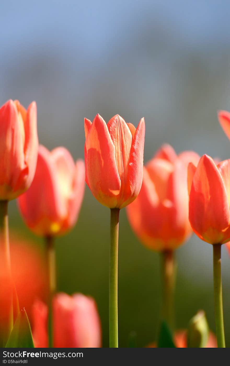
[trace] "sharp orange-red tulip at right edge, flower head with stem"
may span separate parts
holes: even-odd
[[[214,304],[218,347],[225,347],[221,281],[221,245],[230,239],[230,160],[200,158],[188,167],[189,220],[195,234],[213,244]]]

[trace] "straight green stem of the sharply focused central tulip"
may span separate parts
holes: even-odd
[[[118,347],[117,273],[118,227],[120,209],[110,209],[110,259],[109,259],[109,347]]]

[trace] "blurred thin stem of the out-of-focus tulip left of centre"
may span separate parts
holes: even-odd
[[[46,236],[46,258],[47,258],[47,276],[49,284],[48,294],[48,333],[49,333],[49,347],[53,347],[53,319],[52,319],[52,300],[56,292],[56,255],[54,248],[53,236]]]

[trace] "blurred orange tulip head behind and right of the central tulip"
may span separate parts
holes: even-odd
[[[163,145],[144,167],[142,188],[127,215],[133,231],[150,249],[176,249],[191,234],[187,167],[189,161],[198,160],[195,152],[177,156],[173,147]]]

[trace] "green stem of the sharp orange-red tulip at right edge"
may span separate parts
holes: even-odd
[[[222,244],[213,244],[213,284],[217,347],[225,348],[221,280],[221,245]]]

